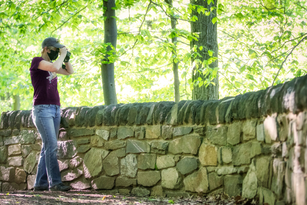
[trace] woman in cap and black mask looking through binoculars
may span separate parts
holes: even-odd
[[[34,88],[33,122],[41,135],[42,148],[37,165],[34,191],[68,191],[71,187],[61,181],[57,161],[57,136],[60,129],[60,97],[57,90],[57,74],[74,73],[72,64],[65,60],[68,49],[56,38],[48,37],[41,44],[41,57],[34,57],[30,74]],[[59,52],[57,49],[60,49]],[[60,57],[55,60],[60,53]],[[69,60],[69,59],[68,59]],[[62,69],[63,62],[66,69]]]

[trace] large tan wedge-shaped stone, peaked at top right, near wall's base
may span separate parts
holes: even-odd
[[[207,169],[201,167],[199,171],[186,176],[183,183],[185,185],[185,191],[206,193],[209,190]]]

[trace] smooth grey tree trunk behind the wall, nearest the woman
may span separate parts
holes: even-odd
[[[115,16],[115,0],[103,1],[104,14],[107,17],[104,20],[104,43],[111,43],[116,49],[117,41],[117,26]],[[107,50],[110,51],[111,47],[108,46]],[[109,55],[105,55],[105,60],[108,61]],[[114,63],[101,64],[101,78],[104,103],[117,104],[116,90],[115,90],[115,79],[114,79]]]

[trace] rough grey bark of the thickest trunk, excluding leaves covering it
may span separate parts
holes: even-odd
[[[204,6],[204,8],[207,8],[207,11],[211,11],[210,8],[216,7],[217,0],[214,0],[214,5],[212,2],[210,5],[208,5],[207,1],[204,0],[190,0],[191,4],[194,5],[200,5]],[[205,14],[198,14],[197,8],[196,11],[192,11],[192,16],[197,16],[198,23],[197,22],[191,22],[191,32],[193,33],[199,33],[198,41],[192,39],[191,41],[191,49],[194,47],[194,45],[197,45],[197,48],[200,46],[204,46],[203,50],[198,50],[200,55],[202,57],[197,56],[198,59],[201,61],[208,60],[210,56],[207,54],[208,50],[214,51],[212,57],[217,58],[218,53],[218,45],[217,45],[217,23],[212,23],[212,18],[216,17],[216,9],[212,10],[211,14],[209,16],[206,16]],[[201,22],[201,23],[199,23]],[[193,64],[193,58],[192,58],[192,64]],[[201,66],[201,65],[200,65]],[[209,65],[210,68],[218,67],[218,61],[216,60],[214,63]],[[200,69],[200,67],[198,68]],[[199,73],[196,71],[196,67],[193,68],[192,72],[192,80],[196,80],[201,77],[203,80],[205,80],[205,77],[202,73]],[[218,75],[216,76],[216,79],[213,80],[215,85],[209,84],[208,87],[205,85],[199,87],[198,85],[194,86],[194,89],[192,90],[192,100],[212,100],[212,99],[219,99],[219,80]]]

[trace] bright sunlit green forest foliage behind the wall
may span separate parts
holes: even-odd
[[[306,1],[206,0],[209,9],[200,1],[115,1],[115,48],[104,40],[105,1],[1,0],[0,112],[32,108],[29,68],[49,36],[72,53],[75,73],[58,75],[62,107],[105,104],[102,67],[110,64],[117,103],[175,101],[173,64],[176,101],[195,99],[193,89],[217,76],[221,99],[306,74]],[[191,26],[201,17],[216,25],[218,52],[195,43]]]

